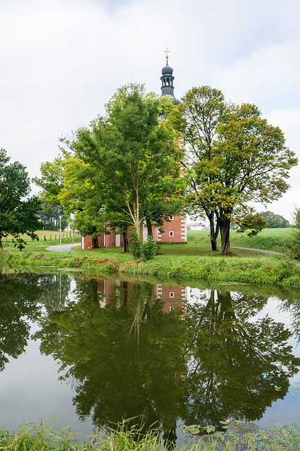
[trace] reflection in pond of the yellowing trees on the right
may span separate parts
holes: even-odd
[[[260,297],[211,290],[206,304],[187,308],[191,333],[186,382],[192,399],[187,423],[218,424],[230,416],[254,421],[287,393],[288,377],[300,359],[292,355],[290,333],[282,323],[268,316],[249,321],[263,303]]]

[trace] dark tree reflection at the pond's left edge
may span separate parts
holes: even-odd
[[[39,317],[37,301],[42,294],[40,276],[32,274],[0,274],[0,371],[8,362],[22,354],[30,337],[28,320]]]

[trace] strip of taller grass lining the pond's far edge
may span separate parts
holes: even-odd
[[[165,246],[163,252],[150,261],[136,262],[130,254],[121,252],[10,252],[0,254],[0,266],[13,268],[76,268],[99,274],[123,276],[150,276],[157,280],[175,280],[178,283],[196,280],[225,283],[254,283],[300,288],[300,264],[287,257],[259,254],[251,257],[223,257],[220,254],[168,254],[175,246]],[[112,249],[113,250],[113,249]]]

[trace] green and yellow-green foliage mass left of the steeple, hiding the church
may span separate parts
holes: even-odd
[[[126,85],[106,104],[106,116],[62,140],[75,157],[65,163],[59,198],[77,207],[80,230],[89,230],[89,220],[96,232],[103,230],[99,221],[120,232],[138,230],[142,221],[159,224],[180,208],[182,150],[170,124],[158,121],[161,108],[142,85]]]

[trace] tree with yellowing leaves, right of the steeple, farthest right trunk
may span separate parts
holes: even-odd
[[[268,204],[279,199],[289,188],[285,179],[298,160],[285,147],[282,130],[261,118],[255,105],[232,106],[218,127],[218,138],[211,165],[215,177],[206,190],[217,207],[222,252],[227,254],[235,211],[241,209],[246,216],[249,202]]]

